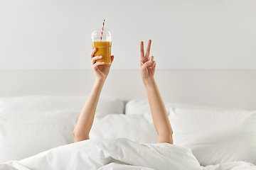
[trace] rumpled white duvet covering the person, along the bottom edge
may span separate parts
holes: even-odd
[[[256,170],[256,166],[245,162],[229,162],[203,167],[191,149],[167,143],[139,145],[119,138],[85,140],[56,147],[19,162],[0,164],[0,170],[6,169]]]

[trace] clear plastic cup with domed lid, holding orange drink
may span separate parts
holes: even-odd
[[[95,30],[92,33],[92,47],[97,48],[97,52],[95,52],[95,56],[102,55],[102,58],[96,60],[96,62],[104,62],[104,64],[111,64],[111,46],[112,46],[112,37],[110,31],[106,28],[103,30],[102,40],[101,37],[101,29]]]

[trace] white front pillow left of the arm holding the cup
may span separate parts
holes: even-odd
[[[0,164],[72,143],[80,112],[0,113]]]

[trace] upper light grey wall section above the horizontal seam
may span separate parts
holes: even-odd
[[[112,69],[256,69],[254,0],[1,0],[0,69],[90,69],[90,34],[113,35]]]

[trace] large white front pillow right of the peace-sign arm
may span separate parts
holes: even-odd
[[[256,164],[256,111],[171,108],[174,145],[191,148],[201,165]]]

